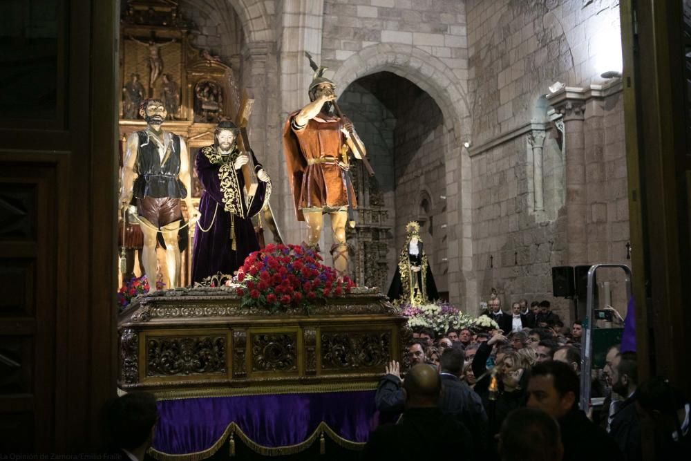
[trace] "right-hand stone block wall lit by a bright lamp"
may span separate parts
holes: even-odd
[[[593,95],[605,82],[600,73],[621,70],[607,68],[617,64],[605,59],[616,55],[618,2],[586,3],[466,4],[477,291],[486,298],[498,288],[504,305],[550,299],[566,318],[570,302],[553,299],[551,267],[625,262],[629,236],[621,87]],[[547,117],[555,100],[544,95],[555,82],[590,91],[574,100],[577,113],[561,109],[566,141]],[[540,178],[531,133],[546,133]],[[536,209],[536,180],[542,209]],[[603,275],[621,279],[616,272]],[[621,283],[617,290],[614,303],[623,310]]]

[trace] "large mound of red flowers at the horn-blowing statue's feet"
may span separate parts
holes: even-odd
[[[340,296],[354,287],[352,280],[339,279],[331,267],[321,264],[319,253],[298,245],[266,245],[249,254],[238,270],[237,288],[243,306],[263,306],[271,311],[311,305]]]

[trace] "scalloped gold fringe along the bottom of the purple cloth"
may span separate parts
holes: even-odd
[[[247,445],[249,449],[251,449],[255,453],[259,453],[260,455],[264,456],[294,455],[296,453],[301,453],[302,451],[309,449],[310,446],[312,446],[312,444],[314,444],[314,442],[316,442],[317,439],[319,439],[319,453],[324,454],[324,435],[328,435],[328,437],[331,440],[333,440],[334,442],[336,442],[336,444],[342,446],[345,449],[359,451],[362,450],[365,446],[364,442],[352,442],[350,440],[345,440],[323,421],[319,423],[319,426],[316,426],[316,429],[314,429],[312,435],[310,435],[310,437],[308,437],[304,442],[300,442],[299,444],[294,445],[276,447],[263,446],[254,442],[253,440],[250,440],[249,437],[247,437],[247,435],[242,431],[242,429],[238,427],[238,425],[235,422],[231,422],[230,424],[228,424],[228,427],[223,432],[223,435],[221,435],[220,438],[216,440],[216,442],[206,450],[196,451],[195,453],[184,453],[182,455],[171,455],[169,453],[163,453],[162,451],[150,448],[149,455],[151,455],[154,459],[159,461],[201,461],[213,456],[216,453],[216,451],[218,451],[220,447],[223,446],[225,440],[227,438],[230,438],[229,455],[232,457],[235,456],[235,435],[237,435],[238,438],[242,440],[243,443]]]

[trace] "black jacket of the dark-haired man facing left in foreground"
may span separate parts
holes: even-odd
[[[614,439],[576,406],[559,420],[564,461],[623,461]]]

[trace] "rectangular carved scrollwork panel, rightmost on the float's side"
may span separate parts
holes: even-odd
[[[391,332],[322,332],[322,370],[383,367],[391,359]]]

